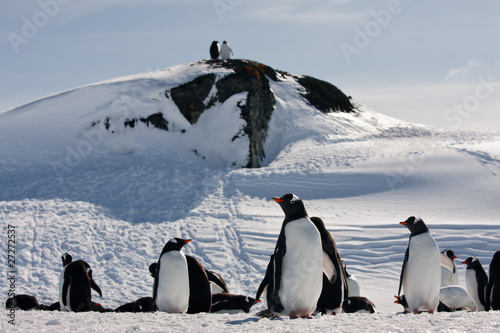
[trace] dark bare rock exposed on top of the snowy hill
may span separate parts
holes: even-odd
[[[266,157],[264,144],[268,135],[268,125],[276,99],[271,90],[270,80],[280,82],[293,78],[300,85],[300,94],[317,110],[330,112],[354,112],[350,98],[334,85],[310,76],[296,76],[275,70],[255,61],[242,59],[202,60],[189,66],[202,65],[213,69],[189,82],[185,82],[163,92],[178,107],[190,124],[196,124],[203,112],[217,103],[223,104],[235,94],[246,93],[235,107],[245,121],[243,128],[235,130],[232,141],[248,137],[248,162],[246,167],[258,168]],[[225,69],[221,71],[220,69]],[[229,71],[227,71],[229,70]],[[134,128],[138,124],[169,131],[168,117],[162,112],[136,118],[109,118],[95,121],[91,126],[102,122],[110,133],[121,128]],[[188,129],[182,129],[186,133]],[[195,151],[195,153],[197,153]],[[244,162],[243,162],[244,163]]]

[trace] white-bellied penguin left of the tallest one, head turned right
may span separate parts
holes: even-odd
[[[153,300],[159,311],[184,313],[189,304],[189,274],[181,252],[190,239],[173,238],[161,251],[155,270]]]

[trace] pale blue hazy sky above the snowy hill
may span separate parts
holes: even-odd
[[[209,58],[328,81],[413,123],[499,131],[500,2],[0,0],[0,112]]]

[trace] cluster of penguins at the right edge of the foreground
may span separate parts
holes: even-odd
[[[489,277],[476,257],[463,261],[467,265],[463,288],[458,285],[457,257],[450,249],[439,252],[424,221],[412,216],[400,224],[410,230],[395,296],[405,313],[500,310],[500,251],[493,255]]]

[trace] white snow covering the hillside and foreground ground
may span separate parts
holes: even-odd
[[[16,226],[16,292],[58,300],[60,257],[87,261],[116,308],[152,296],[148,266],[172,237],[186,254],[254,296],[283,220],[273,200],[295,193],[335,238],[361,296],[378,314],[310,320],[250,314],[2,312],[0,331],[495,331],[498,312],[402,315],[394,304],[409,232],[420,216],[440,250],[476,256],[488,271],[500,249],[500,135],[405,123],[356,104],[324,114],[300,98],[291,77],[272,82],[276,109],[259,169],[244,169],[247,138],[238,94],[190,125],[166,89],[227,69],[179,65],[80,87],[0,113],[0,221]],[[163,112],[169,131],[118,126]],[[115,133],[104,130],[109,117]],[[93,122],[100,121],[96,126]],[[226,125],[226,126],[222,126]],[[182,130],[186,130],[182,133]],[[241,133],[240,133],[241,134]],[[242,148],[245,147],[245,148]],[[196,151],[196,153],[194,153]],[[4,258],[7,245],[4,245]],[[457,262],[458,263],[458,262]],[[4,271],[5,271],[4,266]],[[457,264],[465,287],[465,265]],[[0,280],[3,299],[8,281]]]

